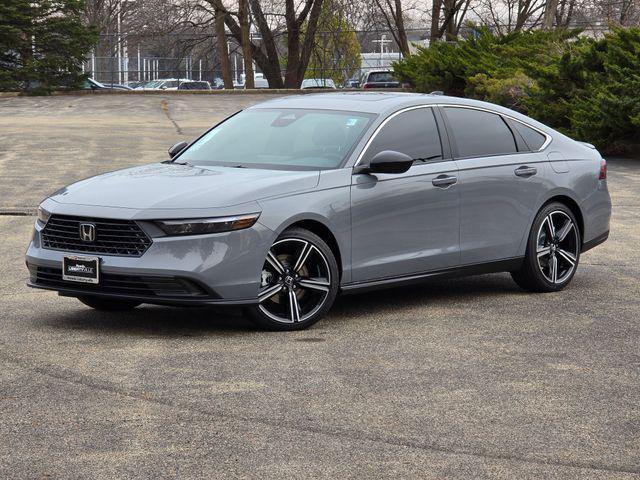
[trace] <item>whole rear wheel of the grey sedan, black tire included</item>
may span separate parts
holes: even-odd
[[[545,205],[533,221],[522,268],[511,276],[532,292],[562,290],[578,269],[581,246],[573,212],[562,203]]]

